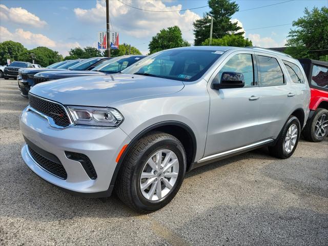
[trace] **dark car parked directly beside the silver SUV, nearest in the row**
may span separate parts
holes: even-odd
[[[113,59],[104,60],[102,63],[98,64],[91,71],[50,71],[50,72],[40,72],[34,75],[34,85],[55,80],[61,78],[71,78],[80,76],[94,76],[94,75],[104,75],[119,73],[120,71],[126,69],[132,64],[136,63],[140,59],[146,57],[145,55],[123,55],[115,57]]]

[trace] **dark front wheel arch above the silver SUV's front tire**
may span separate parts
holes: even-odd
[[[197,150],[196,136],[193,130],[189,126],[187,126],[186,124],[180,121],[162,121],[142,130],[130,141],[128,147],[125,149],[125,151],[119,158],[119,161],[117,162],[115,171],[111,179],[110,186],[115,185],[117,175],[119,173],[120,167],[122,166],[122,163],[124,162],[127,156],[127,153],[132,149],[133,145],[137,140],[139,140],[142,136],[144,136],[150,131],[161,131],[171,134],[176,138],[178,138],[181,144],[183,145],[183,147],[185,148],[186,155],[187,155],[187,170],[189,170],[189,166],[195,160],[196,150]]]

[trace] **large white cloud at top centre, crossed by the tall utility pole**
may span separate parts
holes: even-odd
[[[166,6],[162,1],[125,1],[125,3],[140,9],[147,10],[181,10],[180,4]],[[148,12],[133,9],[118,1],[110,2],[110,16],[115,31],[124,32],[136,38],[150,38],[160,29],[178,26],[183,38],[193,43],[193,22],[200,16],[190,10],[182,12]],[[76,17],[89,24],[99,24],[103,27],[106,21],[106,3],[97,1],[91,9],[74,9]],[[101,24],[101,26],[100,26]]]

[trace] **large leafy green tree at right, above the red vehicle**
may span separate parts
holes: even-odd
[[[293,22],[285,53],[294,58],[327,59],[328,55],[328,8],[305,8],[304,16]]]

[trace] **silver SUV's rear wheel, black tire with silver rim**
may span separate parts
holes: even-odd
[[[294,126],[297,129],[297,132],[293,134],[294,132]],[[289,158],[293,155],[294,151],[296,150],[299,136],[300,136],[300,122],[297,117],[291,115],[286,124],[283,126],[281,133],[276,141],[275,146],[270,146],[269,151],[270,154],[274,157],[278,157],[281,159]],[[285,147],[286,144],[286,136],[288,135],[287,143],[290,142],[291,145],[287,145],[287,148]],[[294,136],[294,137],[293,137]],[[295,139],[296,138],[296,139]],[[295,139],[295,142],[293,140]],[[287,150],[288,149],[288,150]]]

